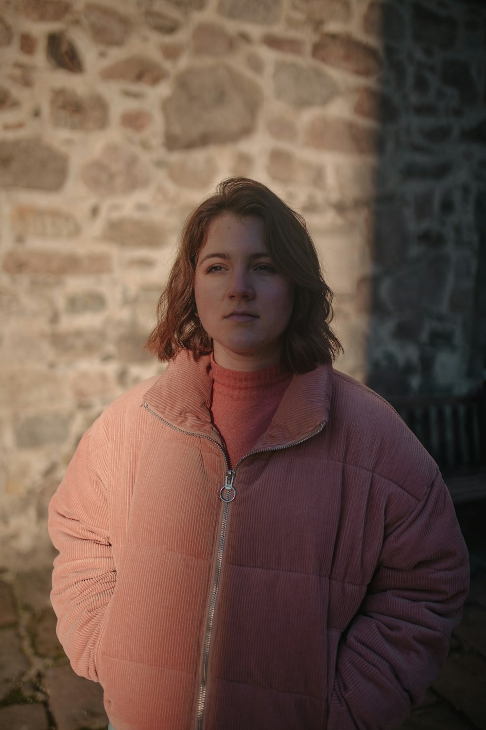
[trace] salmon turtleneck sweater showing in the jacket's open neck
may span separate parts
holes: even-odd
[[[213,424],[221,434],[230,468],[238,464],[267,431],[292,374],[280,365],[260,370],[229,370],[211,358]]]

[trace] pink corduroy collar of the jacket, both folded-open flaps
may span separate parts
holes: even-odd
[[[144,400],[169,425],[214,438],[211,423],[211,357],[195,362],[182,350],[146,392]],[[332,366],[320,365],[294,375],[283,394],[272,423],[254,450],[286,446],[310,437],[325,426],[332,396]]]

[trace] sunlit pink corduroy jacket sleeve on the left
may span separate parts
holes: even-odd
[[[96,681],[95,650],[117,574],[109,540],[106,485],[93,466],[92,439],[90,429],[52,497],[49,531],[59,550],[51,593],[58,637],[74,671]]]

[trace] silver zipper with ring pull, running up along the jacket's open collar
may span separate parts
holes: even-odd
[[[151,413],[155,418],[158,418],[162,421],[162,423],[165,423],[166,426],[169,426],[171,429],[174,429],[174,431],[179,431],[181,434],[187,434],[188,436],[195,436],[200,439],[208,439],[208,441],[212,441],[213,444],[216,444],[219,449],[221,449],[223,458],[224,458],[224,465],[226,466],[226,475],[224,477],[224,485],[219,490],[219,499],[222,500],[224,503],[223,507],[223,515],[221,520],[221,531],[219,533],[219,545],[218,545],[218,552],[216,554],[216,568],[214,571],[214,583],[213,583],[213,592],[211,593],[211,603],[209,604],[209,611],[208,611],[208,620],[206,621],[206,631],[205,631],[205,641],[204,641],[204,650],[203,650],[203,666],[202,666],[202,672],[201,672],[201,683],[199,687],[199,694],[197,696],[197,730],[203,729],[203,718],[204,718],[204,704],[205,704],[205,695],[206,695],[206,685],[208,683],[208,658],[209,658],[209,647],[211,645],[211,631],[213,629],[213,618],[214,618],[214,610],[216,608],[216,598],[218,596],[218,588],[219,588],[219,576],[221,575],[221,567],[223,562],[223,551],[224,551],[224,541],[226,539],[226,526],[228,521],[228,510],[230,509],[230,503],[235,499],[236,491],[233,487],[233,482],[235,480],[236,476],[236,470],[238,469],[238,466],[240,466],[241,462],[244,461],[248,456],[253,456],[254,454],[262,453],[265,451],[280,451],[282,449],[287,449],[291,446],[298,446],[299,444],[302,444],[305,441],[308,441],[308,439],[311,439],[313,436],[317,436],[322,429],[324,429],[324,423],[320,423],[318,429],[315,429],[315,431],[312,432],[312,434],[307,434],[306,437],[303,439],[299,439],[298,441],[293,441],[291,444],[285,444],[285,445],[279,445],[279,446],[269,446],[267,448],[261,448],[257,449],[256,451],[250,451],[249,453],[245,454],[245,456],[242,456],[240,458],[240,461],[235,464],[233,469],[230,469],[230,465],[228,464],[227,456],[224,451],[224,448],[221,444],[219,444],[216,439],[212,439],[210,436],[204,436],[204,434],[195,434],[192,431],[184,431],[184,429],[179,429],[179,426],[173,426],[172,423],[169,423],[168,420],[165,420],[162,418],[161,415],[153,411],[151,408],[149,408],[148,403],[144,403],[144,408]]]

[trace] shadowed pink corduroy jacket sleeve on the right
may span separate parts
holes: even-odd
[[[328,730],[392,730],[442,668],[469,589],[469,561],[438,473],[385,534],[367,593],[342,637]]]

